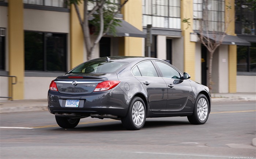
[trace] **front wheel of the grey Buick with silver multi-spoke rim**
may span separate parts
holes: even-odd
[[[192,116],[188,116],[191,124],[199,125],[206,123],[210,112],[209,102],[205,95],[199,94],[196,98]]]

